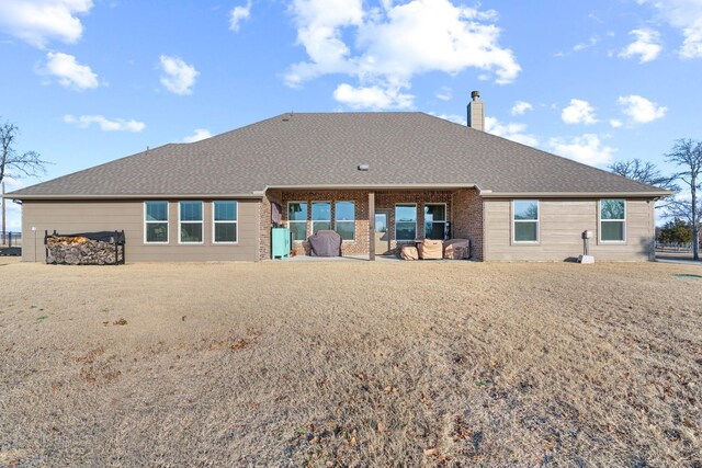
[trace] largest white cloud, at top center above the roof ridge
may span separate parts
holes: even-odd
[[[342,73],[359,80],[355,89],[399,94],[423,72],[477,68],[508,83],[521,70],[512,52],[499,45],[500,30],[491,23],[496,13],[452,0],[383,0],[366,8],[362,0],[293,0],[291,11],[308,56],[287,70],[291,87]]]

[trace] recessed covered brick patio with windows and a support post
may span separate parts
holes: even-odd
[[[337,231],[350,259],[395,258],[423,239],[469,239],[473,256],[482,253],[483,202],[475,187],[276,189],[267,191],[267,204],[262,216],[278,212],[271,219],[291,230],[296,259],[310,256],[308,238],[321,230]]]

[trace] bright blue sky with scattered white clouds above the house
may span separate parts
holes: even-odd
[[[290,111],[465,122],[472,90],[488,132],[600,168],[702,138],[702,0],[0,0],[0,64],[41,180]]]

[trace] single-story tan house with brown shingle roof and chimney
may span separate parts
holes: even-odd
[[[43,233],[124,230],[127,261],[257,261],[272,220],[294,249],[333,229],[348,255],[415,239],[471,239],[483,261],[653,259],[654,202],[669,192],[418,112],[283,114],[13,192],[24,261]],[[36,249],[36,251],[35,251]]]

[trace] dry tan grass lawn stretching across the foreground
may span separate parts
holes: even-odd
[[[702,467],[657,263],[0,259],[0,466]]]

